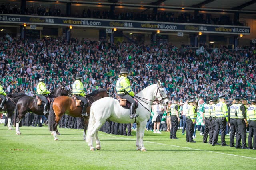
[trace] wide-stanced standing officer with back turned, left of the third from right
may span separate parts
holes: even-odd
[[[218,141],[219,132],[221,131],[221,146],[229,146],[226,144],[225,135],[226,135],[226,123],[228,121],[228,107],[225,103],[225,95],[220,96],[218,98],[219,102],[215,105],[215,116],[216,116],[216,123],[215,123],[215,131],[212,140],[212,146],[214,146]]]

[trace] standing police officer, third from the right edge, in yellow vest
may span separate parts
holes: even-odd
[[[230,107],[229,107],[229,111],[228,111],[228,122],[229,122],[229,125],[230,125],[230,147],[235,147],[234,146],[234,137],[235,137],[235,134],[238,132],[238,126],[237,126],[237,112],[236,112],[236,109],[239,105],[239,97],[237,98],[234,98],[234,104],[232,104]],[[236,136],[237,137],[237,136]],[[239,146],[236,146],[236,147],[239,147]]]

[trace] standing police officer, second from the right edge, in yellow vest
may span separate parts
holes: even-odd
[[[242,149],[248,149],[246,146],[246,127],[248,127],[248,122],[247,122],[247,116],[246,116],[246,100],[247,96],[244,96],[240,98],[240,104],[238,105],[236,111],[237,111],[237,125],[238,125],[238,133],[237,133],[237,138],[236,138],[236,148],[240,148],[240,142],[242,139]]]

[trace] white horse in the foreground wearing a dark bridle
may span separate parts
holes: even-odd
[[[155,98],[158,103],[168,103],[166,89],[158,80],[157,84],[150,85],[138,93],[135,98],[140,100],[138,108],[136,109],[137,131],[136,131],[136,147],[137,150],[146,151],[143,144],[144,131],[148,119],[150,118],[150,108]],[[86,135],[86,142],[90,146],[90,150],[95,150],[93,141],[96,140],[96,149],[100,150],[100,140],[98,138],[98,130],[105,123],[106,120],[118,123],[134,123],[134,119],[130,119],[130,110],[120,106],[118,100],[110,97],[101,98],[92,103],[90,109],[90,119],[88,124],[88,133]],[[94,138],[93,138],[94,137]]]

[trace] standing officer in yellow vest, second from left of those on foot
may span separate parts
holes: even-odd
[[[195,98],[188,100],[188,109],[186,109],[186,141],[196,142],[193,140],[193,133],[196,124],[196,108],[193,106]]]

